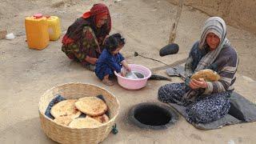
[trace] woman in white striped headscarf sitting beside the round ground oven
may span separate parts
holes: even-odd
[[[226,38],[226,24],[222,18],[211,17],[205,22],[201,38],[190,50],[185,71],[186,82],[161,86],[158,99],[186,106],[186,120],[195,123],[213,122],[226,115],[230,109],[230,94],[234,90],[238,55]],[[189,79],[199,70],[211,69],[220,75],[215,82]],[[197,91],[194,101],[186,94]]]

